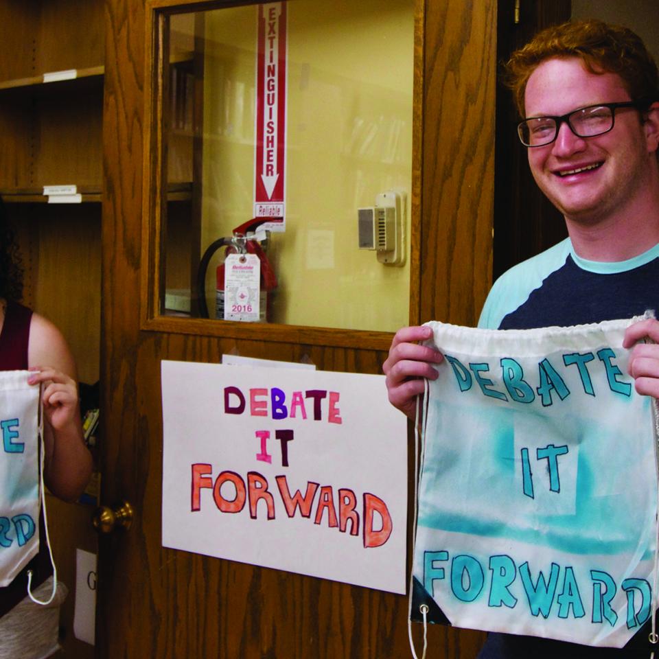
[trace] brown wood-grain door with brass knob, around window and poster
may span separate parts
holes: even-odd
[[[102,498],[110,505],[126,498],[135,520],[100,542],[97,656],[410,656],[404,596],[161,546],[161,359],[216,362],[238,349],[380,373],[391,334],[154,314],[148,260],[157,241],[145,209],[157,191],[143,191],[159,149],[145,140],[154,4],[106,0]],[[416,33],[410,318],[470,324],[492,269],[496,3],[419,2]],[[419,643],[418,627],[415,637]],[[434,627],[429,656],[474,657],[482,638]]]

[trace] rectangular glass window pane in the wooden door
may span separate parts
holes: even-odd
[[[413,4],[170,16],[163,312],[408,323]]]

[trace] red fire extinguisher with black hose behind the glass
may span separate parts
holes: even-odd
[[[224,247],[224,258],[216,268],[216,318],[224,319],[224,262],[227,256],[236,253],[254,254],[260,264],[260,294],[259,294],[259,322],[264,323],[272,319],[273,292],[277,288],[275,270],[266,255],[263,239],[257,238],[256,229],[265,222],[282,222],[282,218],[252,218],[239,227],[233,229],[231,238],[218,238],[206,249],[199,264],[197,275],[197,288],[199,299],[199,314],[202,318],[209,318],[206,303],[206,272],[208,264],[218,249]]]

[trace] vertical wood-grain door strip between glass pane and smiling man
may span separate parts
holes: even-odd
[[[421,320],[473,325],[492,283],[496,1],[427,2],[425,35]]]

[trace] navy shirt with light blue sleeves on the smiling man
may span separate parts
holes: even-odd
[[[487,296],[479,327],[533,329],[582,325],[659,310],[659,245],[615,263],[586,261],[569,238],[507,270]],[[622,649],[490,633],[478,659],[636,659],[654,649],[650,621]]]

